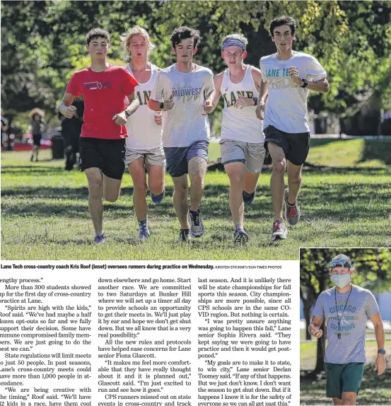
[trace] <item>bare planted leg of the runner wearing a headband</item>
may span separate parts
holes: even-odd
[[[230,180],[229,207],[233,224],[243,229],[243,188],[245,186],[245,166],[241,162],[227,163],[226,173]]]

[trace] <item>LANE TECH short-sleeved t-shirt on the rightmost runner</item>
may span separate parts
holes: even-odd
[[[296,66],[300,79],[319,81],[327,76],[317,59],[303,52],[293,52],[286,61],[277,54],[262,57],[259,67],[262,79],[269,84],[269,95],[264,113],[264,128],[272,125],[284,132],[310,132],[308,124],[307,98],[310,91],[296,85],[288,76],[288,69]]]

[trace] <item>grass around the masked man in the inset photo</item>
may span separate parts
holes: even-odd
[[[357,405],[391,405],[391,356],[386,357],[388,368],[382,376],[373,371],[378,346],[375,341],[366,342],[367,363]],[[391,340],[385,341],[385,349],[391,349]],[[300,371],[315,368],[316,342],[300,342]],[[388,351],[390,354],[390,351]],[[326,398],[325,376],[317,380],[300,379],[300,405],[332,405]]]

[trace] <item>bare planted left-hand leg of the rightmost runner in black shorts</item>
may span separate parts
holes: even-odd
[[[270,188],[272,191],[272,202],[274,211],[274,220],[282,220],[282,208],[284,204],[284,174],[286,170],[286,158],[281,146],[269,141],[268,149],[273,160],[272,178],[270,179]]]

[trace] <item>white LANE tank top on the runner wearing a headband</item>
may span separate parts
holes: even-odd
[[[235,108],[238,95],[253,98],[258,95],[257,88],[252,79],[252,66],[247,65],[245,77],[240,83],[230,81],[229,68],[224,71],[221,83],[221,94],[224,99],[223,121],[221,122],[221,140],[233,139],[236,141],[261,143],[264,141],[262,121],[257,119],[255,106]]]

